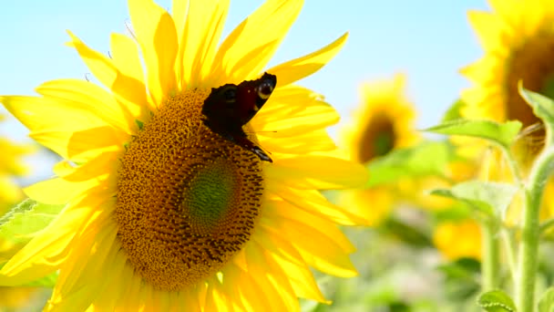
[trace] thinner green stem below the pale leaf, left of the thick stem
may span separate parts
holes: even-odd
[[[482,254],[483,263],[481,267],[482,291],[498,288],[498,226],[493,222],[481,222],[481,234],[483,236]]]

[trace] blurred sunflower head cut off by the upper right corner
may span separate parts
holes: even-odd
[[[485,55],[462,69],[474,83],[462,94],[468,118],[519,120],[526,130],[518,142],[524,166],[544,145],[541,121],[518,94],[518,81],[530,90],[554,96],[554,6],[548,1],[490,0],[493,12],[471,11],[469,22]],[[523,143],[523,144],[521,144]]]

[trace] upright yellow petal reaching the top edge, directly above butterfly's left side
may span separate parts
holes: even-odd
[[[202,81],[213,86],[205,78],[210,74],[228,10],[229,0],[190,2],[178,57],[182,61],[179,69],[184,86],[198,87]]]

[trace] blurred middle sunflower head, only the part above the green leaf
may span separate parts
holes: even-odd
[[[367,163],[418,140],[414,104],[405,97],[405,75],[364,83],[361,94],[354,120],[342,132],[353,161]]]

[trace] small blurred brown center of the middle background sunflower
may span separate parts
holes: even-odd
[[[358,160],[362,163],[386,155],[395,147],[395,125],[385,114],[372,117],[365,128],[358,151]]]

